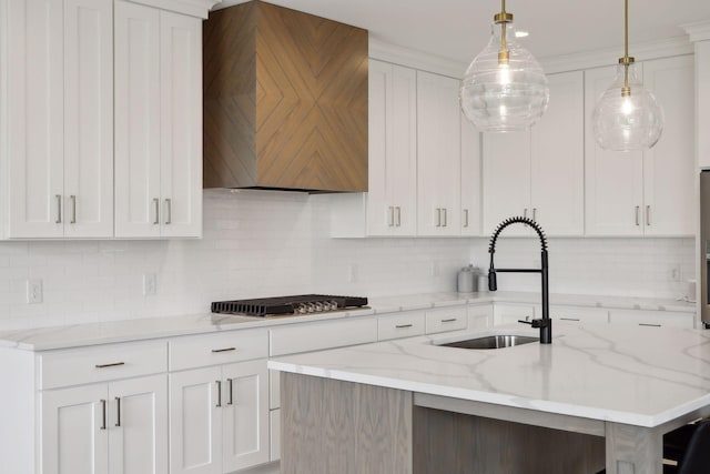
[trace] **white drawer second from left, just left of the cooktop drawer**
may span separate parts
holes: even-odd
[[[266,357],[266,330],[230,331],[170,341],[170,370],[202,367]]]

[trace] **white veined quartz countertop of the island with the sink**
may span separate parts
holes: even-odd
[[[500,326],[469,335],[538,335]],[[500,350],[416,337],[285,356],[272,370],[497,405],[658,426],[710,405],[710,334],[703,331],[555,322],[552,343]]]

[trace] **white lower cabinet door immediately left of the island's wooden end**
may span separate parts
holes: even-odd
[[[268,370],[265,360],[225,365],[223,471],[268,462]]]

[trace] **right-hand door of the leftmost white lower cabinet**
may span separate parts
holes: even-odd
[[[109,474],[168,474],[168,377],[109,384]]]

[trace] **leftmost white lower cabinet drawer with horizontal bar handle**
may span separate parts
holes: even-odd
[[[105,382],[168,370],[168,344],[152,341],[39,353],[38,387]]]

